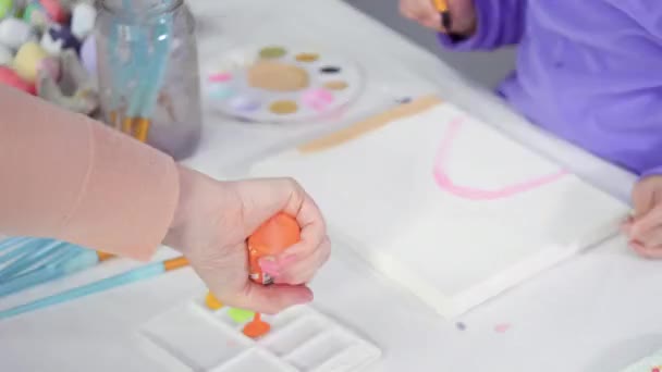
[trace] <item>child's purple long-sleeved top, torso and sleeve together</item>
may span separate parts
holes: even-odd
[[[662,0],[474,0],[450,49],[518,44],[499,87],[542,128],[634,173],[662,174]]]

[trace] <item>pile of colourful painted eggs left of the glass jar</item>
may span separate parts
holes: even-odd
[[[0,84],[93,114],[95,18],[91,0],[0,0]]]

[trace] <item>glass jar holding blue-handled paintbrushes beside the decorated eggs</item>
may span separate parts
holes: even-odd
[[[203,127],[194,18],[183,0],[101,0],[97,71],[106,122],[175,160]]]

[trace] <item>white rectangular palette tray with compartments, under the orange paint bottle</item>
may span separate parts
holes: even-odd
[[[194,300],[150,320],[140,330],[147,352],[172,371],[360,371],[381,350],[309,306],[265,315],[271,332],[254,340],[229,309]]]

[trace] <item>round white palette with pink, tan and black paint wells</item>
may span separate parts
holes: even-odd
[[[301,122],[332,113],[360,94],[363,75],[347,59],[281,46],[228,53],[206,77],[220,112],[254,122]]]

